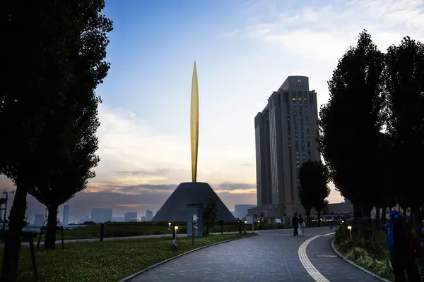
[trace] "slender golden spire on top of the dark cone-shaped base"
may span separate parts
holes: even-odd
[[[196,61],[192,80],[192,110],[190,114],[190,135],[192,137],[192,181],[197,178],[197,154],[199,149],[199,86],[197,85]]]

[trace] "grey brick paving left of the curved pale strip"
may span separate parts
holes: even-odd
[[[322,233],[319,229],[307,228],[307,234]],[[207,247],[174,259],[134,277],[131,282],[313,281],[298,259],[298,248],[310,235],[293,238],[292,230],[262,231],[259,236]]]

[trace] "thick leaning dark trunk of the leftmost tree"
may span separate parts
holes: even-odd
[[[1,266],[0,281],[14,282],[18,278],[19,252],[25,220],[26,196],[28,189],[17,185],[15,199],[8,222],[8,234],[4,242],[4,258]]]

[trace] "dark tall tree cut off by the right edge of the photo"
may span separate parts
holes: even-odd
[[[386,66],[396,198],[411,207],[414,225],[420,230],[424,190],[417,183],[424,168],[420,162],[424,157],[424,44],[404,37],[399,46],[387,49]]]

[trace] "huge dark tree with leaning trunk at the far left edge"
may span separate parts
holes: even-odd
[[[1,4],[1,62],[7,69],[0,87],[0,174],[16,185],[4,245],[1,281],[16,281],[28,190],[40,159],[35,151],[46,119],[57,111],[70,80],[69,35],[82,14],[70,6],[83,1],[6,1]]]

